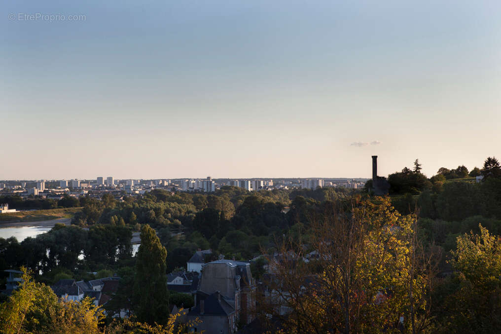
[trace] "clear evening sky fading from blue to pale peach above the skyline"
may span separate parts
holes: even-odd
[[[419,158],[430,177],[501,158],[498,1],[0,11],[0,180],[370,178],[371,155],[380,176]]]

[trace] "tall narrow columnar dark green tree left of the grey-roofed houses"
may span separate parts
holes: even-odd
[[[141,228],[141,246],[137,252],[134,279],[134,313],[139,321],[166,323],[169,295],[165,275],[167,250],[149,225]]]

